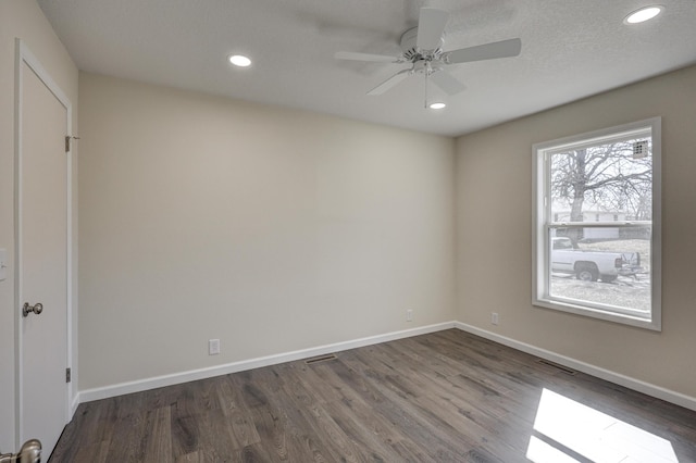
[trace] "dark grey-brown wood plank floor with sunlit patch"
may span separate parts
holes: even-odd
[[[696,461],[696,412],[456,329],[83,403],[50,461],[592,461],[534,429],[544,389]]]

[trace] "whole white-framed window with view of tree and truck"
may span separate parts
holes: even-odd
[[[660,122],[534,145],[534,305],[661,328]]]

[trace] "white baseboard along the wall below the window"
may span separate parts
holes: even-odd
[[[686,396],[681,392],[675,392],[673,390],[666,389],[663,387],[656,386],[649,383],[645,383],[639,379],[632,378],[630,376],[621,375],[619,373],[611,372],[609,370],[605,370],[599,366],[572,359],[570,356],[561,355],[556,352],[551,352],[546,349],[538,348],[536,346],[520,342],[514,339],[500,336],[492,331],[487,331],[485,329],[476,328],[475,326],[467,325],[465,323],[455,322],[455,327],[458,329],[461,329],[462,331],[481,336],[482,338],[486,338],[492,341],[501,343],[504,346],[511,347],[522,352],[526,352],[529,354],[549,360],[560,365],[568,366],[573,370],[577,370],[579,372],[583,372],[588,375],[608,380],[610,383],[627,387],[629,389],[633,389],[638,392],[643,392],[645,395],[656,397],[658,399],[666,400],[668,402],[675,403],[686,409],[696,411],[696,398],[694,397]]]

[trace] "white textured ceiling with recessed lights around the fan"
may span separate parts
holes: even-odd
[[[449,136],[696,63],[696,0],[656,1],[626,26],[651,0],[38,0],[83,71]],[[334,53],[396,57],[421,7],[450,13],[446,51],[520,37],[522,53],[450,66],[467,90],[439,112],[422,76],[366,96],[409,66]]]

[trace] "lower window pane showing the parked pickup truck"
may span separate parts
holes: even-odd
[[[649,226],[549,228],[548,242],[549,296],[650,312]]]

